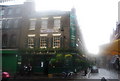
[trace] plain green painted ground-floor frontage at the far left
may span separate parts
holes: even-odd
[[[2,71],[17,72],[17,50],[2,50]]]

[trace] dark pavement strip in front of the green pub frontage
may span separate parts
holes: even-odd
[[[43,75],[43,74],[40,74],[40,75],[31,75],[31,76],[17,76],[17,77],[13,77],[13,78],[10,78],[10,79],[87,79],[89,78],[89,75],[90,75],[90,70],[88,71],[87,75],[84,76],[84,72],[81,71],[77,74],[73,74],[72,76],[70,77],[67,77],[67,78],[64,78],[62,75],[60,74],[53,74],[53,76],[51,77],[48,77],[48,75]]]

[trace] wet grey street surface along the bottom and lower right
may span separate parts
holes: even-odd
[[[10,81],[101,81],[101,78],[105,77],[107,81],[119,81],[118,73],[113,70],[107,70],[103,68],[99,68],[99,73],[88,73],[87,76],[83,76],[81,74],[76,75],[74,78],[26,78],[26,79],[15,79]]]

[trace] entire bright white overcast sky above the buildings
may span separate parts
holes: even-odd
[[[24,0],[19,0],[20,2]],[[78,23],[90,53],[109,43],[116,27],[119,0],[35,0],[36,10],[70,10],[75,7]]]

